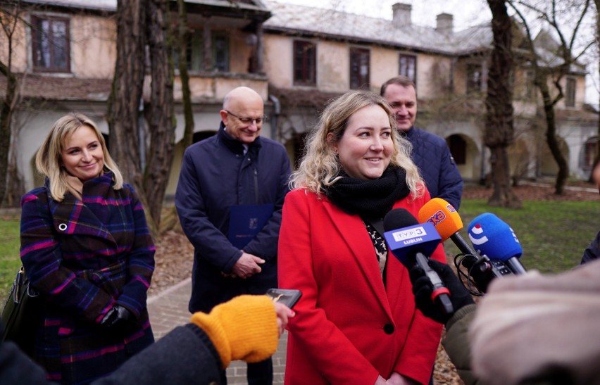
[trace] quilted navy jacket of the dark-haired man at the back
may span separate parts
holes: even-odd
[[[413,144],[411,158],[425,179],[431,197],[442,198],[458,210],[463,196],[463,177],[446,141],[414,126],[405,137]]]

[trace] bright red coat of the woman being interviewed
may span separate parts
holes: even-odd
[[[430,200],[397,201],[415,217]],[[442,245],[432,258],[445,263]],[[427,384],[442,325],[415,308],[408,270],[392,253],[386,284],[358,215],[304,189],[287,194],[279,286],[303,293],[289,321],[285,384],[375,383],[398,372]]]

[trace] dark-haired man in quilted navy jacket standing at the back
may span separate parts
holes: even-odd
[[[442,198],[458,210],[463,195],[463,177],[446,141],[414,127],[417,117],[415,84],[406,76],[392,77],[381,86],[381,96],[394,110],[398,130],[413,144],[411,158],[425,179],[431,197]]]

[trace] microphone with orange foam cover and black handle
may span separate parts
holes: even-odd
[[[419,210],[419,222],[429,222],[442,236],[442,241],[451,239],[458,249],[468,255],[462,263],[467,267],[469,277],[473,278],[475,286],[482,293],[487,291],[487,286],[492,279],[511,274],[511,271],[500,261],[493,263],[487,256],[481,256],[461,236],[459,231],[463,228],[461,215],[447,201],[442,198],[432,198]],[[470,258],[472,256],[473,258]],[[458,266],[457,266],[458,267]]]

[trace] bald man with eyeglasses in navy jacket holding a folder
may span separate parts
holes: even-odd
[[[260,137],[261,95],[225,96],[218,133],[186,149],[175,207],[194,246],[190,313],[277,287],[277,241],[291,172],[284,146]],[[225,370],[222,383],[227,384]],[[248,384],[272,384],[271,359],[249,363]]]

